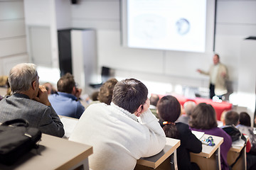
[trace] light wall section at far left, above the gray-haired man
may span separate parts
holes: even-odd
[[[0,1],[0,75],[28,62],[23,1]]]

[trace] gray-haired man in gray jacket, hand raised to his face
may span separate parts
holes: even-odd
[[[48,135],[63,137],[63,123],[48,101],[48,94],[39,86],[36,65],[22,63],[14,66],[9,73],[12,96],[0,101],[0,122],[23,118],[29,126],[38,128]]]

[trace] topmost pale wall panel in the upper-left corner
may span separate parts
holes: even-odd
[[[0,20],[24,18],[23,1],[1,1]]]

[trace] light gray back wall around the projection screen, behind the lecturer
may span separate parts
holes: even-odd
[[[142,50],[122,47],[118,0],[81,0],[72,6],[72,25],[97,29],[98,65],[115,69],[119,77],[136,77],[187,86],[208,86],[208,77],[197,68],[208,69],[212,54]],[[255,0],[218,0],[215,52],[228,66],[230,88],[236,90],[241,41],[256,35]]]

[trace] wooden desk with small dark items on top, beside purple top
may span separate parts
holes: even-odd
[[[223,137],[205,134],[202,139],[210,136],[213,137],[215,146],[202,145],[202,152],[199,154],[191,153],[191,162],[196,162],[200,169],[221,169],[220,145],[223,143]]]

